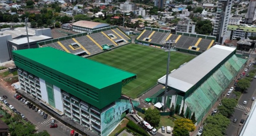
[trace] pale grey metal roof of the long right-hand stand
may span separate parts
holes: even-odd
[[[235,50],[222,45],[213,46],[170,73],[168,86],[186,92]],[[165,80],[166,77],[162,77],[158,82],[165,85]]]

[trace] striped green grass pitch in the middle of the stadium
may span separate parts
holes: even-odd
[[[89,59],[137,74],[137,79],[122,87],[122,94],[137,98],[157,84],[157,79],[166,74],[168,52],[162,49],[130,44],[105,52]],[[195,56],[171,52],[169,70],[177,69]]]

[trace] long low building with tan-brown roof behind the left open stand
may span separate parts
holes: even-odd
[[[109,24],[80,20],[72,25],[72,29],[75,32],[85,33],[88,31],[94,31],[110,27]]]

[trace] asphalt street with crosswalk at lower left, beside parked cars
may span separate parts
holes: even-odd
[[[31,108],[24,105],[22,102],[18,101],[14,98],[14,92],[7,91],[0,86],[0,96],[6,95],[8,98],[6,101],[12,105],[14,108],[17,109],[21,114],[25,115],[25,118],[29,119],[34,125],[36,125],[36,129],[38,131],[47,130],[51,136],[68,136],[70,135],[70,128],[66,127],[64,124],[56,121],[55,124],[58,125],[58,128],[50,128],[51,120],[53,119],[51,116],[48,115],[47,119],[43,119],[43,116],[40,116],[37,112],[32,110]],[[4,105],[6,106],[6,105]]]

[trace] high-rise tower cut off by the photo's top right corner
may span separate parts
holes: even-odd
[[[245,24],[252,24],[253,21],[256,20],[256,0],[250,0],[246,18],[245,18]]]

